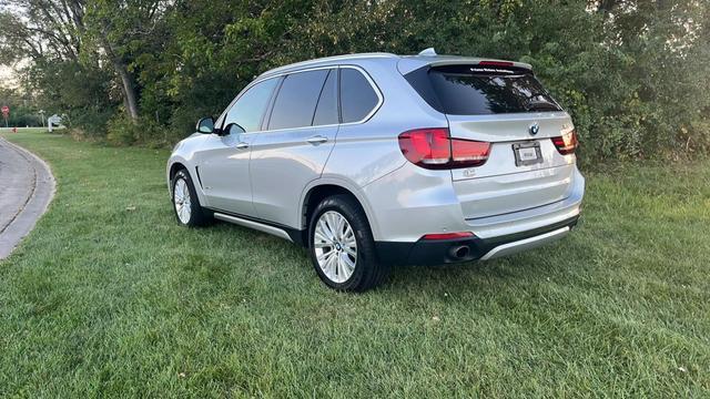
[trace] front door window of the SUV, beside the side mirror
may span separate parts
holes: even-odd
[[[260,130],[262,117],[277,82],[278,79],[268,79],[250,88],[227,111],[224,127],[236,123],[245,132]]]

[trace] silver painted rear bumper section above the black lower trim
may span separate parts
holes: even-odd
[[[561,201],[538,206],[520,197],[517,206],[520,211],[495,212],[483,217],[477,216],[480,215],[477,212],[469,215],[464,212],[450,171],[429,171],[412,163],[366,185],[363,194],[377,242],[416,243],[426,234],[446,232],[473,232],[479,238],[493,238],[577,216],[585,194],[585,177],[575,167]],[[530,207],[525,209],[525,206]]]

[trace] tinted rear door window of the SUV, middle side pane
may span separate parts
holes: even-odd
[[[327,70],[298,72],[284,79],[268,121],[268,130],[311,126]]]

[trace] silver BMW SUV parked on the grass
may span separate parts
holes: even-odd
[[[325,284],[490,259],[558,239],[585,180],[570,116],[529,64],[352,54],[264,72],[168,162],[178,221],[308,248]]]

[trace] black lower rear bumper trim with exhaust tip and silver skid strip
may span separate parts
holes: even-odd
[[[530,249],[565,236],[579,215],[521,233],[491,238],[455,238],[415,243],[376,242],[379,260],[392,265],[442,265],[493,259]]]

